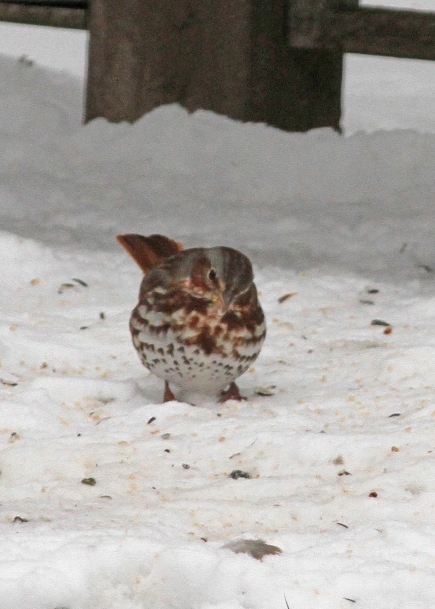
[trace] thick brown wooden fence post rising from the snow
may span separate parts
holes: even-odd
[[[86,120],[158,105],[339,128],[342,52],[288,46],[292,0],[91,0]]]

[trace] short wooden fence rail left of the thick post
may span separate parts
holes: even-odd
[[[0,21],[23,23],[30,26],[85,30],[87,29],[86,13],[85,9],[0,2]]]

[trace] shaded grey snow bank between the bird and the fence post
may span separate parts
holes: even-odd
[[[435,266],[433,134],[283,133],[177,105],[135,125],[83,128],[78,83],[2,65],[4,230],[112,252],[116,232],[158,231],[186,245],[239,244],[259,264],[386,280]],[[35,91],[24,98],[30,130],[5,111],[24,90]]]

